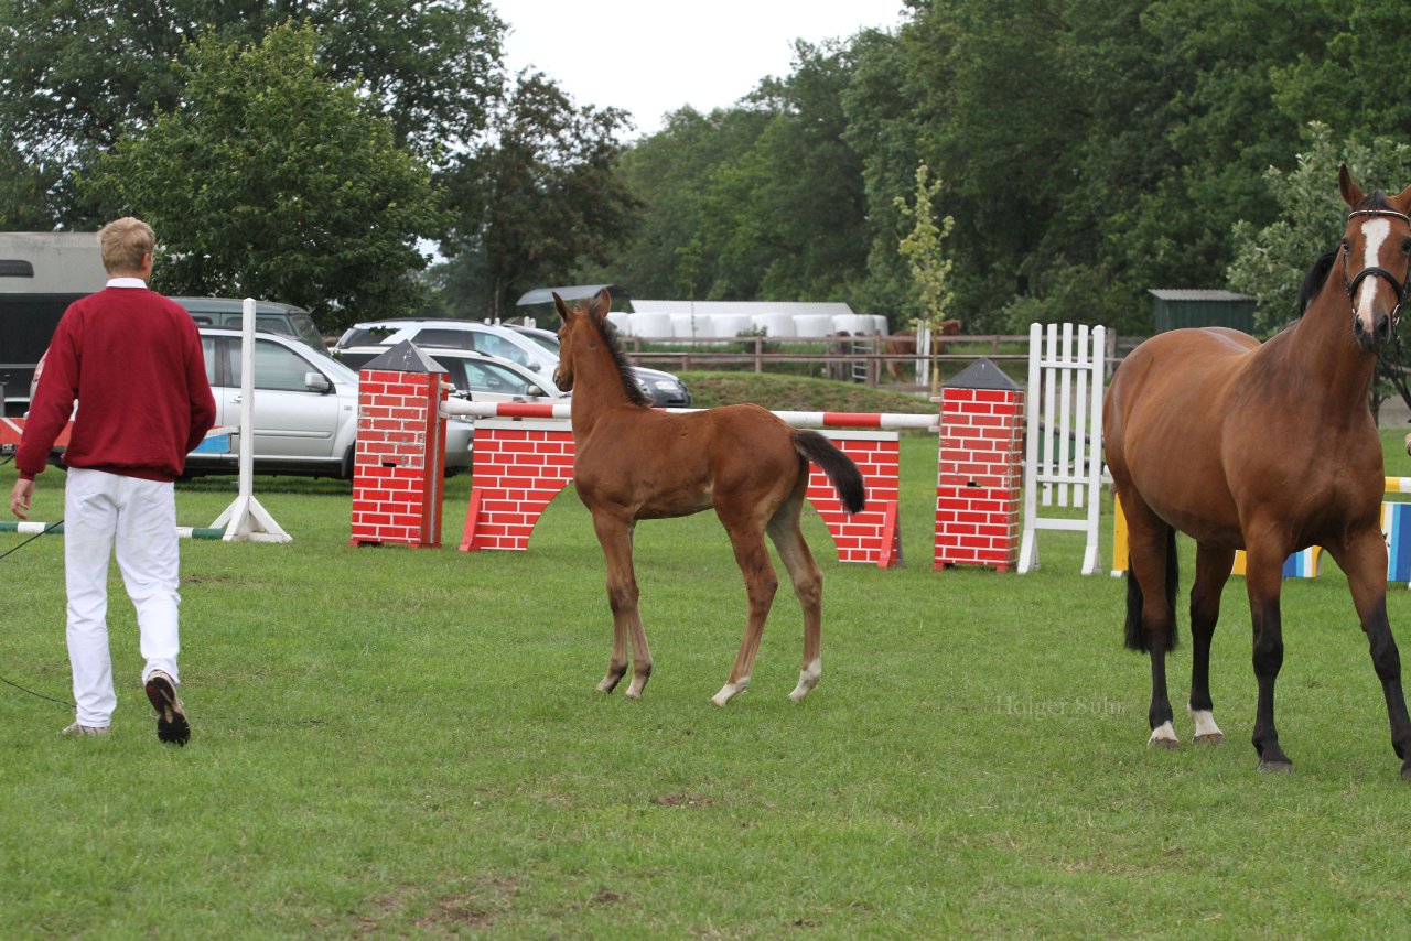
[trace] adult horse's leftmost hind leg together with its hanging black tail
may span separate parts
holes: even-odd
[[[1177,748],[1180,739],[1171,724],[1171,698],[1165,684],[1165,655],[1175,638],[1174,590],[1175,542],[1171,528],[1157,516],[1130,488],[1119,492],[1127,516],[1127,542],[1132,554],[1127,585],[1129,646],[1147,650],[1151,659],[1151,707],[1147,722],[1151,728],[1149,745]],[[1134,597],[1133,597],[1134,595]],[[1132,619],[1139,617],[1137,624]],[[1132,631],[1140,631],[1133,636]]]

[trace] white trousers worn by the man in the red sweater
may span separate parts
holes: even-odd
[[[63,492],[63,571],[69,595],[69,663],[82,725],[107,725],[117,705],[107,650],[107,569],[117,549],[137,609],[140,650],[152,670],[178,681],[176,492],[164,481],[73,468]]]

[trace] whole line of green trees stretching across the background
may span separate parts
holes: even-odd
[[[159,286],[326,329],[511,316],[529,288],[600,281],[847,300],[900,329],[923,310],[899,247],[924,165],[967,332],[1147,333],[1149,288],[1223,286],[1273,327],[1336,238],[1338,162],[1411,182],[1403,13],[909,0],[631,140],[611,103],[505,75],[476,0],[0,0],[0,229],[133,212],[169,255]]]

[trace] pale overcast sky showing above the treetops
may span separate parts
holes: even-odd
[[[511,75],[535,66],[574,104],[631,111],[634,137],[690,104],[728,107],[790,72],[793,41],[893,30],[902,0],[490,0]]]

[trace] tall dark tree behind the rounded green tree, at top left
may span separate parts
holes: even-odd
[[[319,62],[426,159],[471,141],[499,90],[504,24],[484,0],[0,0],[0,140],[31,166],[65,168],[51,214],[93,223],[72,171],[176,109],[198,37],[258,42],[308,23]],[[3,212],[3,207],[0,207]]]

